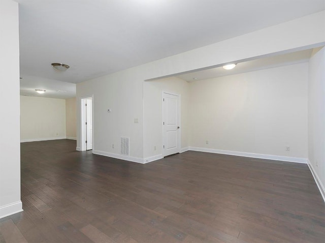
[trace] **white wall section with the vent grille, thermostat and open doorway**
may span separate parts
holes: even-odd
[[[142,81],[126,71],[77,84],[77,150],[80,149],[80,98],[93,95],[92,152],[142,163]],[[108,109],[112,111],[109,113]],[[139,123],[134,123],[135,118]],[[129,156],[119,155],[121,137],[130,138]]]

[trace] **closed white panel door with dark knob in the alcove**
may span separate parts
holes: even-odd
[[[178,95],[163,93],[164,156],[180,151],[180,99]]]

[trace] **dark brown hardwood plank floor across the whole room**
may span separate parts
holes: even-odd
[[[22,213],[0,242],[324,242],[325,207],[303,164],[188,151],[141,165],[21,144]]]

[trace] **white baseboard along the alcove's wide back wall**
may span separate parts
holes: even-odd
[[[278,155],[260,154],[260,153],[246,153],[246,152],[220,150],[220,149],[212,149],[212,148],[198,148],[198,147],[189,147],[189,150],[307,164],[307,158],[296,158],[296,157],[287,157],[287,156],[278,156]]]

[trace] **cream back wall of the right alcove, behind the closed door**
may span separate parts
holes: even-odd
[[[301,63],[192,82],[190,145],[306,161],[307,76]]]

